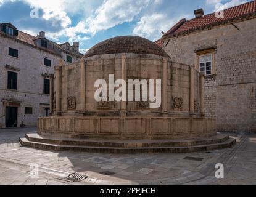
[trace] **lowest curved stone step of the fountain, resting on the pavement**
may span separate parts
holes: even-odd
[[[197,145],[188,147],[89,147],[75,145],[57,145],[51,143],[41,143],[29,141],[27,138],[20,138],[20,143],[23,146],[47,149],[54,151],[76,151],[76,152],[91,152],[91,153],[191,153],[196,151],[209,151],[218,148],[229,148],[236,142],[235,139],[228,139],[223,143],[215,143],[209,145]]]

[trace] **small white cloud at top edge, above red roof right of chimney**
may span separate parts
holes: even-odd
[[[214,12],[218,12],[220,10],[228,9],[229,7],[238,6],[240,4],[244,4],[248,2],[247,0],[231,0],[229,2],[222,3],[221,0],[207,0],[207,4],[215,4]]]

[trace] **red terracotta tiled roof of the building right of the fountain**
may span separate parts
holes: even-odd
[[[256,0],[241,4],[239,6],[231,7],[224,10],[224,18],[215,17],[215,13],[204,15],[200,18],[191,20],[182,19],[175,26],[173,26],[165,36],[184,33],[186,31],[196,30],[204,26],[220,24],[228,20],[233,20],[247,15],[256,14]]]

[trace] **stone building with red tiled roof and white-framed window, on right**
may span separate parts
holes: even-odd
[[[205,117],[218,131],[256,131],[256,1],[217,14],[195,11],[155,43],[205,73]]]

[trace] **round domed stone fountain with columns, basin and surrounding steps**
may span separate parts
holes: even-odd
[[[51,84],[53,116],[39,118],[38,133],[20,139],[22,145],[170,153],[234,143],[217,135],[214,118],[204,117],[204,74],[173,62],[161,47],[141,37],[111,38],[89,49],[80,62],[60,61]]]

